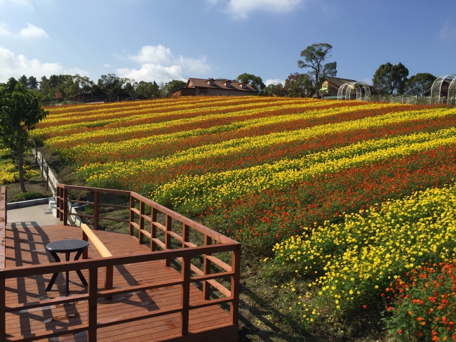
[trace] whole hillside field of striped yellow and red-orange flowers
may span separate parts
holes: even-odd
[[[188,97],[52,107],[33,134],[87,185],[240,241],[305,327],[375,308],[398,340],[455,341],[455,124],[440,106]]]

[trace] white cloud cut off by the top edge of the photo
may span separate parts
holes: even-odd
[[[207,0],[208,4],[215,6],[220,1]],[[224,10],[234,18],[246,19],[253,11],[267,11],[273,13],[287,13],[293,10],[302,0],[229,0]]]

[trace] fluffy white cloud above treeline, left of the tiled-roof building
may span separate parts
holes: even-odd
[[[204,73],[210,70],[206,57],[188,58],[173,55],[170,48],[163,45],[142,46],[138,55],[128,55],[130,60],[140,63],[140,69],[119,68],[116,73],[120,77],[133,78],[136,81],[168,82],[173,79],[186,81],[187,72]]]

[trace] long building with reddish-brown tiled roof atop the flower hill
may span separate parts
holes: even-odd
[[[173,98],[180,96],[246,96],[254,93],[255,89],[246,82],[190,78],[185,88],[180,88],[173,93]]]

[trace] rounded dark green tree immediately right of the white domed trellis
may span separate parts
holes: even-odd
[[[373,86],[377,93],[393,95],[394,93],[403,94],[405,90],[405,82],[408,77],[408,69],[398,63],[382,64],[377,69],[372,79]]]

